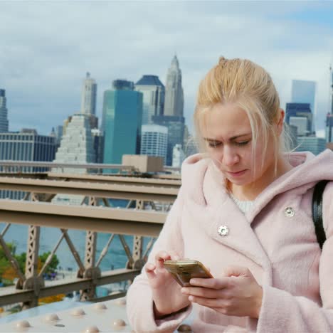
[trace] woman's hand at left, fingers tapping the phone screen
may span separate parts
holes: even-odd
[[[164,260],[179,260],[179,257],[160,251],[155,255],[155,263],[147,263],[144,267],[152,288],[154,314],[157,319],[191,304],[189,297],[181,293],[181,286],[164,268]]]

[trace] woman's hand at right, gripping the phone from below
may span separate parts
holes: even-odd
[[[188,295],[191,302],[229,316],[259,317],[263,288],[248,268],[229,266],[224,277],[196,277],[190,283],[194,287],[183,287],[181,292]]]

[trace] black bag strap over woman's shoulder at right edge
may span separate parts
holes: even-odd
[[[324,231],[324,225],[322,223],[322,194],[326,184],[329,181],[323,180],[314,186],[313,196],[312,196],[312,219],[314,223],[314,230],[316,231],[317,240],[320,248],[326,240],[326,235]]]

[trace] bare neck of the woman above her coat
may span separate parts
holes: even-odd
[[[253,201],[255,198],[270,184],[273,183],[282,174],[287,173],[292,169],[292,165],[285,159],[280,157],[277,159],[277,168],[275,172],[275,165],[270,166],[260,177],[253,183],[246,184],[244,186],[238,186],[228,182],[228,189],[231,191],[233,196],[241,201]]]

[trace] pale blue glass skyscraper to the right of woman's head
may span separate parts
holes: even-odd
[[[316,83],[314,81],[292,80],[292,103],[309,103],[314,115],[316,98]],[[311,132],[314,131],[314,122],[311,124]]]

